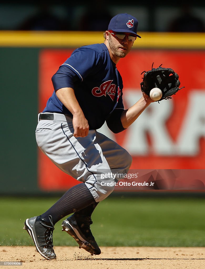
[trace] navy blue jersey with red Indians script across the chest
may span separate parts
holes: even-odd
[[[72,116],[57,98],[58,89],[71,87],[89,123],[99,129],[110,118],[113,110],[122,114],[122,77],[112,62],[104,43],[77,48],[52,77],[54,92],[43,112]]]

